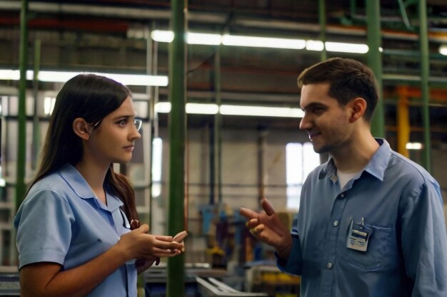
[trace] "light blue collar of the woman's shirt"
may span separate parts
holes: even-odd
[[[86,182],[84,177],[79,173],[76,168],[71,164],[66,164],[59,170],[59,174],[65,180],[69,187],[73,189],[73,192],[81,199],[94,199],[95,194],[91,190],[91,187]],[[116,196],[106,192],[107,195],[107,207],[110,212],[114,212],[117,208],[121,207],[124,203]],[[101,203],[100,203],[101,204]],[[105,206],[105,205],[104,205]],[[101,207],[103,207],[101,205]],[[104,208],[104,207],[103,207]]]

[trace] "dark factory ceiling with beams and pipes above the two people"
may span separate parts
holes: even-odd
[[[316,0],[189,0],[187,31],[230,33],[242,36],[321,39]],[[325,1],[327,41],[367,43],[366,1]],[[419,1],[382,0],[383,97],[386,125],[396,125],[396,99],[401,88],[418,92],[420,80]],[[21,1],[0,1],[0,68],[18,68]],[[151,41],[148,32],[169,29],[171,1],[89,0],[29,1],[29,65],[34,41],[41,41],[41,69],[114,71],[168,74],[168,44]],[[433,127],[447,142],[447,2],[426,1],[430,51]],[[216,75],[216,53],[221,71]],[[321,52],[278,48],[189,45],[186,48],[188,100],[214,102],[216,78],[221,100],[227,103],[298,106],[296,78],[304,68],[321,60]],[[328,52],[368,63],[367,54]],[[150,58],[148,58],[150,57]],[[5,82],[0,82],[4,84]],[[6,82],[7,83],[7,82]],[[14,82],[9,82],[13,84]],[[41,88],[54,88],[42,84]],[[144,93],[146,88],[134,92]],[[168,100],[160,88],[159,100]],[[389,104],[388,104],[389,103]],[[415,99],[417,106],[417,98]],[[412,125],[421,125],[418,108]],[[212,121],[212,116],[191,116],[191,125]],[[161,118],[163,120],[163,118]],[[249,123],[249,124],[247,124]],[[298,128],[296,119],[224,119],[234,127]],[[392,130],[392,129],[391,129]]]

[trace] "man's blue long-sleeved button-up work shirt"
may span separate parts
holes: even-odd
[[[303,297],[447,297],[447,239],[433,177],[386,140],[343,189],[330,159],[309,174],[278,267],[301,275]],[[370,230],[368,249],[348,249],[348,230]]]

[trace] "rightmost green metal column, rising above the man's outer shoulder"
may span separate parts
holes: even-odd
[[[419,44],[421,46],[421,95],[423,120],[423,155],[422,165],[431,172],[431,140],[430,140],[430,110],[428,108],[428,76],[430,75],[430,56],[428,56],[428,29],[426,0],[419,0]]]

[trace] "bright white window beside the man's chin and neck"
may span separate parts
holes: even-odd
[[[311,142],[286,145],[287,208],[299,209],[303,182],[320,165],[320,155],[313,151]]]

